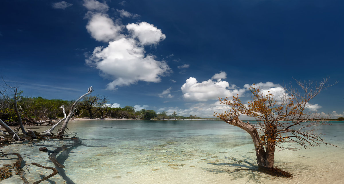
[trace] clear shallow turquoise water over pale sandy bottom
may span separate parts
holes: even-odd
[[[215,120],[88,120],[70,122],[71,135],[89,146],[78,146],[57,159],[68,169],[42,183],[344,183],[344,123],[319,127],[322,145],[299,151],[276,152],[275,165],[293,179],[272,177],[241,168],[255,168],[250,136],[240,128]],[[32,127],[37,131],[45,126]],[[70,142],[41,140],[12,144],[2,152],[21,153],[27,164],[54,167],[40,147],[54,150]],[[66,155],[68,154],[68,155]],[[68,156],[68,157],[67,157]],[[13,157],[14,158],[14,157]],[[241,160],[242,162],[236,162]],[[15,160],[1,158],[2,164]],[[24,167],[30,183],[52,171]],[[18,175],[2,183],[22,183]]]

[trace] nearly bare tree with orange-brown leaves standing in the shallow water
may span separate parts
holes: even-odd
[[[327,81],[328,78],[325,78],[315,85],[312,81],[297,81],[304,91],[303,94],[291,86],[289,89],[282,88],[278,97],[254,85],[250,88],[252,100],[247,104],[241,102],[238,96],[233,96],[233,100],[228,97],[224,100],[219,98],[221,104],[229,107],[226,112],[215,113],[215,116],[249,133],[255,145],[259,168],[271,169],[274,165],[275,149],[300,149],[286,143],[297,143],[304,148],[319,146],[320,143],[331,145],[324,142],[321,135],[315,131],[316,126],[325,124],[324,121],[319,121],[320,114],[308,111],[311,105],[309,102],[331,86],[326,85]],[[258,123],[245,123],[239,119],[240,115],[254,117]]]

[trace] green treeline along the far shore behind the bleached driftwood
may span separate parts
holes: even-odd
[[[74,100],[45,99],[43,97],[20,96],[19,113],[23,122],[42,121],[64,117],[62,105],[68,114]],[[17,125],[18,116],[14,111],[13,99],[0,100],[0,119],[8,125]],[[109,100],[103,95],[86,96],[78,104],[73,117],[88,117],[90,119],[118,118],[118,119],[205,119],[197,116],[179,116],[177,112],[167,115],[165,111],[157,113],[153,110],[142,109],[137,111],[135,107],[111,107]]]

